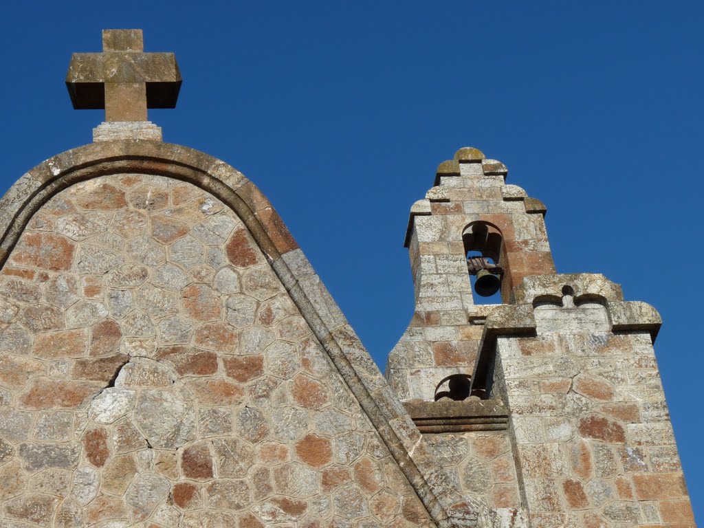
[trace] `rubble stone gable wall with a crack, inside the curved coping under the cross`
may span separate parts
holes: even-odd
[[[0,298],[0,526],[434,525],[203,190],[68,187],[32,216]]]

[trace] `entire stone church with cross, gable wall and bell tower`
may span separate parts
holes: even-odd
[[[502,163],[413,205],[384,376],[257,187],[146,121],[175,59],[103,46],[67,78],[94,142],[0,201],[0,528],[695,526],[658,313],[559,275]]]

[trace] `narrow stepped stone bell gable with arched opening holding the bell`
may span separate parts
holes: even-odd
[[[401,400],[433,401],[441,379],[471,378],[484,327],[468,324],[467,313],[482,313],[484,298],[470,276],[499,284],[501,301],[511,303],[523,277],[555,273],[546,208],[505,184],[507,173],[478,149],[459,149],[411,208],[404,245],[415,313],[386,366]]]

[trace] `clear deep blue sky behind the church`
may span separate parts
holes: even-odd
[[[701,2],[19,2],[0,20],[4,191],[91,141],[73,51],[144,29],[174,51],[165,140],[268,195],[384,365],[408,324],[403,235],[436,165],[476,146],[548,206],[560,272],[603,272],[665,321],[655,344],[704,523]]]

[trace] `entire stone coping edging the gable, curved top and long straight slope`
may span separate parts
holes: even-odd
[[[505,515],[453,488],[275,209],[227,163],[185,146],[140,140],[100,142],[58,154],[20,177],[0,199],[0,268],[32,215],[52,196],[77,182],[130,172],[189,182],[239,215],[439,527],[506,526]]]

